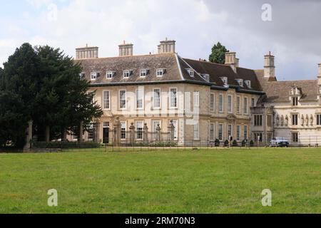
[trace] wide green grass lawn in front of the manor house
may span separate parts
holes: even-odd
[[[0,154],[0,213],[321,213],[320,185],[321,149]]]

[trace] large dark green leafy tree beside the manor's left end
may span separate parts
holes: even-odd
[[[22,142],[25,137],[21,134],[25,135],[29,120],[34,121],[39,140],[65,138],[66,130],[73,130],[80,123],[88,125],[102,115],[102,110],[92,103],[94,93],[87,93],[90,83],[81,80],[80,73],[81,66],[60,49],[33,48],[25,43],[0,71],[0,107],[6,110],[0,110],[0,121],[19,120],[16,123],[21,123],[21,127],[11,130]],[[0,133],[7,132],[0,122]],[[11,140],[17,145],[14,137],[2,138],[3,142]]]

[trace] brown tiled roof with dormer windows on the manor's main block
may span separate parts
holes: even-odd
[[[206,61],[195,61],[188,58],[181,58],[175,53],[163,53],[146,56],[124,56],[113,58],[90,58],[76,60],[81,63],[83,73],[88,81],[92,72],[100,73],[96,81],[91,81],[91,86],[114,86],[134,83],[201,83],[215,88],[227,89],[220,77],[227,77],[230,87],[247,92],[263,93],[255,71],[246,68],[237,68],[237,73],[230,66],[210,63]],[[156,71],[159,68],[165,69],[163,77],[157,77]],[[190,76],[186,69],[192,68],[194,77]],[[148,76],[141,77],[140,71],[148,69]],[[123,71],[132,71],[129,78],[123,78]],[[106,78],[107,71],[114,71],[112,79]],[[208,74],[210,82],[205,81],[201,74]],[[251,81],[251,88],[246,85],[240,88],[236,79]]]

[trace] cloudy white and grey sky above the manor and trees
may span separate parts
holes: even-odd
[[[253,69],[263,68],[271,51],[279,81],[315,79],[321,63],[319,0],[0,0],[0,6],[0,67],[25,42],[68,56],[88,44],[111,57],[123,41],[134,44],[134,54],[156,53],[165,38],[193,59],[208,59],[220,41],[241,67]]]

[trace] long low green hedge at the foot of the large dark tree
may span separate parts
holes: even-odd
[[[33,142],[34,148],[39,149],[76,149],[76,148],[99,148],[96,142]]]

